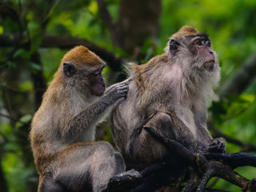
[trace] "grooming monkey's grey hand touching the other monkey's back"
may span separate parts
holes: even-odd
[[[110,100],[116,102],[118,99],[127,96],[129,90],[128,82],[121,82],[111,86],[104,94]]]

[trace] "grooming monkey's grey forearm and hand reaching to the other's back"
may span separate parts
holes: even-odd
[[[108,93],[105,93],[99,100],[86,107],[83,111],[75,115],[67,122],[67,126],[61,130],[61,136],[68,141],[76,140],[83,135],[86,129],[88,130],[94,123],[97,123],[102,114],[108,107],[113,105],[118,99],[127,95],[127,83],[121,83],[113,86]],[[94,130],[92,130],[94,133]]]

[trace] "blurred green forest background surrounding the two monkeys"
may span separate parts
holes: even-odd
[[[0,188],[36,191],[29,145],[31,118],[61,57],[85,45],[108,66],[108,85],[125,78],[124,63],[163,53],[181,26],[205,31],[219,55],[222,80],[209,109],[209,129],[227,153],[256,153],[255,0],[0,0]],[[108,121],[97,139],[112,142]],[[248,179],[256,169],[236,171]],[[209,185],[241,191],[213,178]]]

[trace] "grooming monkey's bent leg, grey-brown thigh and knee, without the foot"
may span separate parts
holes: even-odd
[[[103,191],[110,178],[125,170],[123,158],[108,142],[69,145],[59,152],[53,166],[53,178],[71,191],[90,184],[94,192]]]

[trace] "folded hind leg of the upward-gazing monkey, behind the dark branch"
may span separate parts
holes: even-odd
[[[174,139],[191,150],[197,149],[197,146],[201,145],[192,134],[192,131],[175,114],[157,112],[144,126],[154,128],[163,136]],[[166,155],[167,150],[165,147],[162,147],[159,142],[153,142],[152,139],[151,135],[143,128],[135,128],[129,137],[127,150],[129,160],[145,162],[147,161],[145,157],[151,157],[151,160],[154,161]],[[151,162],[145,163],[150,164]]]

